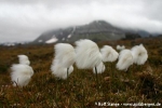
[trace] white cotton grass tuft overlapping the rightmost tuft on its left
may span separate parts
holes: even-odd
[[[119,60],[117,63],[117,68],[119,70],[127,70],[127,68],[133,64],[133,55],[130,50],[122,50],[119,54]]]

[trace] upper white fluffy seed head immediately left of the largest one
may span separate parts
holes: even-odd
[[[55,60],[65,68],[76,62],[76,52],[71,44],[58,43],[55,45]]]

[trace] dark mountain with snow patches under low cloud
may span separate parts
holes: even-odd
[[[94,21],[82,26],[68,27],[65,29],[55,29],[43,32],[32,43],[55,43],[55,42],[75,42],[79,39],[91,39],[93,41],[119,40],[125,39],[127,32],[133,38],[139,38],[140,33],[148,35],[146,31],[127,31],[110,25],[105,21]]]

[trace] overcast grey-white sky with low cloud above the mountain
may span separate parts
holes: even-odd
[[[95,19],[162,33],[162,0],[0,0],[0,42],[31,41]]]

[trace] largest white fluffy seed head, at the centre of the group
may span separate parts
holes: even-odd
[[[76,65],[80,69],[94,68],[102,62],[97,44],[84,39],[76,42]]]

